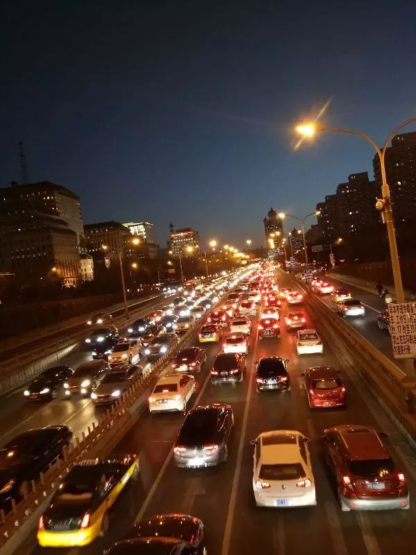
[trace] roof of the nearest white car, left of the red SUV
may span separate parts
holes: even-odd
[[[300,432],[284,429],[260,434],[261,463],[291,464],[299,462],[301,460],[298,445],[299,436]]]

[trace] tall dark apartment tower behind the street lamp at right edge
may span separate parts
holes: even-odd
[[[377,195],[381,195],[379,156],[373,158]],[[385,173],[392,200],[395,223],[416,219],[416,131],[401,133],[385,151]]]

